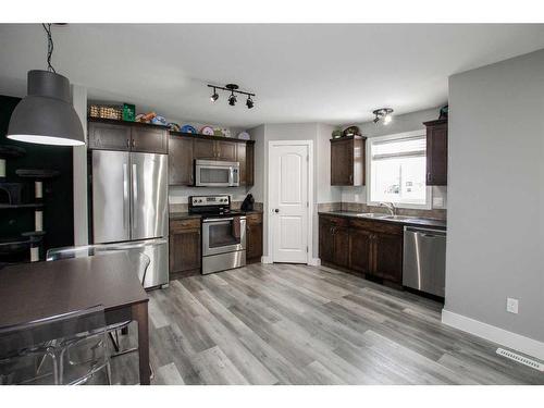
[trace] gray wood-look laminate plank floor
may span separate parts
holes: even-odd
[[[254,264],[149,295],[153,384],[544,384],[443,325],[442,305],[327,268]],[[115,358],[114,382],[136,368]]]

